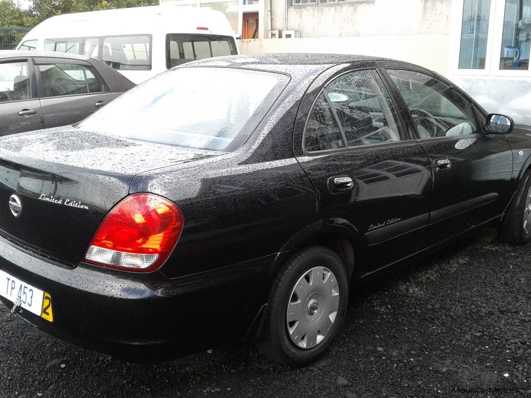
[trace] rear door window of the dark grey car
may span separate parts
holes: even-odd
[[[91,66],[46,64],[39,65],[39,71],[44,88],[41,97],[72,96],[108,91],[101,77]]]

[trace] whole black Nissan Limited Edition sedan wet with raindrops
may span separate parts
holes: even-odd
[[[349,288],[483,226],[531,238],[531,128],[388,59],[205,59],[0,139],[0,299],[127,360],[303,366]]]

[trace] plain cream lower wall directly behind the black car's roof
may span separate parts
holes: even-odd
[[[238,40],[242,54],[327,53],[372,55],[422,65],[442,75],[448,66],[448,34]]]

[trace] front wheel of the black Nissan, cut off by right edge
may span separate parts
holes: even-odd
[[[531,171],[526,170],[518,183],[507,219],[498,227],[498,239],[513,245],[531,240]]]

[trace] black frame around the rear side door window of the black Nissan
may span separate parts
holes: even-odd
[[[313,111],[315,109],[315,105],[316,105],[317,101],[319,101],[319,98],[321,97],[321,95],[324,94],[324,90],[333,81],[335,81],[337,79],[340,79],[342,76],[345,76],[345,75],[348,75],[348,74],[352,74],[352,73],[357,73],[357,72],[363,72],[363,71],[374,71],[374,73],[380,78],[380,82],[382,84],[380,89],[382,90],[383,96],[387,100],[388,106],[389,106],[389,108],[391,110],[391,115],[396,115],[395,116],[395,123],[396,123],[396,125],[397,125],[397,127],[399,129],[398,134],[400,136],[400,140],[398,140],[398,141],[386,141],[386,142],[370,143],[370,144],[363,144],[363,145],[350,145],[349,146],[348,143],[347,143],[346,137],[345,137],[344,129],[341,126],[341,122],[340,122],[340,120],[339,120],[339,118],[338,118],[338,116],[336,114],[336,111],[333,108],[333,106],[331,105],[330,99],[325,94],[324,98],[327,100],[328,106],[331,108],[332,117],[333,117],[333,119],[335,120],[336,124],[339,127],[339,131],[340,131],[342,139],[344,140],[345,146],[342,147],[342,148],[323,149],[323,150],[319,150],[319,151],[308,151],[306,149],[306,143],[305,143],[308,123],[310,121],[310,117],[313,114]],[[393,111],[394,111],[394,113],[393,113]],[[310,107],[310,110],[309,110],[308,114],[306,115],[306,119],[305,119],[305,122],[304,122],[304,130],[303,130],[303,133],[302,133],[302,141],[301,141],[302,145],[301,146],[302,146],[302,151],[303,151],[304,155],[306,155],[306,156],[319,156],[319,155],[323,155],[323,154],[328,154],[330,152],[352,151],[352,150],[359,150],[359,149],[369,148],[369,147],[373,148],[373,146],[375,146],[375,145],[397,145],[397,144],[400,144],[400,143],[403,143],[403,142],[407,142],[407,141],[411,141],[411,140],[413,140],[413,138],[410,136],[410,134],[408,134],[408,129],[406,128],[406,124],[404,123],[404,119],[402,119],[400,108],[399,108],[398,104],[396,103],[395,99],[393,98],[392,91],[389,88],[387,79],[384,76],[382,76],[381,69],[378,66],[375,66],[375,67],[355,68],[355,69],[351,69],[351,70],[342,72],[340,74],[337,74],[337,75],[334,75],[334,76],[330,77],[330,79],[327,79],[326,82],[324,82],[322,84],[321,88],[319,89],[319,92],[317,93],[317,95],[315,96],[315,98],[312,101],[312,105]]]

